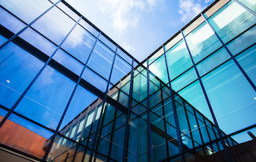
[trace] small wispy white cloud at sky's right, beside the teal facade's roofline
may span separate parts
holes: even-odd
[[[201,13],[205,7],[206,6],[203,5],[200,0],[179,0],[178,12],[181,14],[181,22],[188,22],[197,16],[197,14]]]

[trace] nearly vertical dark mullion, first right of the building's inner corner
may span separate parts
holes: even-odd
[[[149,80],[149,69],[148,69],[148,59],[146,59],[146,75],[147,75],[147,132],[148,132],[148,134],[147,134],[147,136],[148,136],[148,138],[147,138],[147,140],[148,140],[148,162],[150,162],[151,161],[151,159],[152,159],[152,134],[151,134],[151,124],[150,124],[150,122],[151,122],[151,117],[150,117],[150,109],[149,109],[149,88],[150,88],[150,80]]]

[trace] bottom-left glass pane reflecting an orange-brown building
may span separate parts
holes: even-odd
[[[0,132],[1,144],[40,159],[46,153],[46,141],[53,135],[53,132],[13,114],[1,126]]]

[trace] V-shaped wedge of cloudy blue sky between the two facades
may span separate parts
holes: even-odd
[[[67,0],[138,61],[160,45],[213,0]]]

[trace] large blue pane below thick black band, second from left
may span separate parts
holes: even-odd
[[[74,87],[75,82],[57,70],[46,67],[15,111],[55,129]]]

